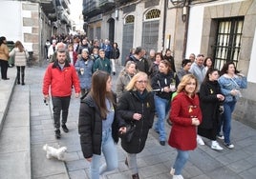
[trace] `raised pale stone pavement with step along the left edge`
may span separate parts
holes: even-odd
[[[0,81],[0,178],[31,178],[30,90],[13,88],[16,70],[8,74],[10,80]]]

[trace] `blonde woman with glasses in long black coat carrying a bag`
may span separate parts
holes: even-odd
[[[121,127],[119,129],[121,147],[127,152],[125,165],[132,170],[133,179],[139,179],[137,154],[145,147],[154,115],[154,95],[151,92],[148,76],[145,72],[138,72],[128,83],[126,91],[117,103],[118,127]],[[130,131],[131,128],[128,126],[133,126],[133,131]]]

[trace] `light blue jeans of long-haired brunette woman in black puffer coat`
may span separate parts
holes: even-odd
[[[106,163],[100,166],[101,155],[93,155],[91,163],[91,179],[99,179],[103,172],[117,169],[117,147],[112,138],[112,129],[102,131],[101,151]]]

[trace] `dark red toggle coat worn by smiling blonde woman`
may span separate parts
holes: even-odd
[[[184,92],[178,93],[171,105],[170,120],[173,123],[168,144],[176,149],[197,148],[197,127],[192,125],[192,117],[202,122],[199,97],[189,98]]]

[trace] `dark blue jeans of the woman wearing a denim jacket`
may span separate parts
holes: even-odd
[[[221,125],[219,127],[219,132],[221,132],[223,127],[225,144],[230,144],[231,119],[232,112],[234,111],[235,106],[236,101],[224,103],[224,113],[221,117]]]

